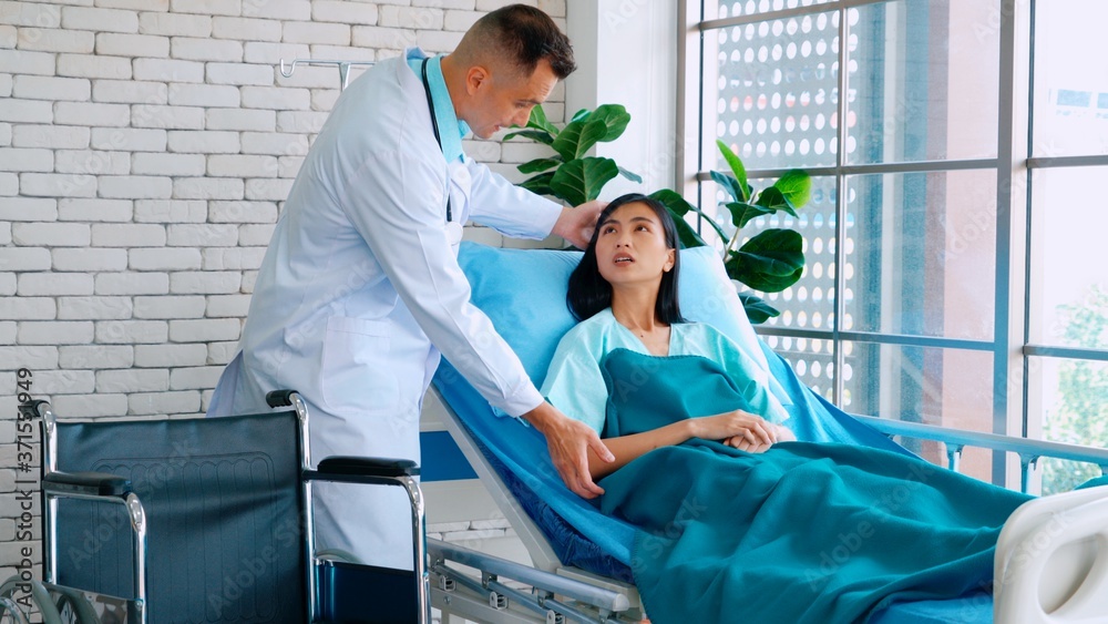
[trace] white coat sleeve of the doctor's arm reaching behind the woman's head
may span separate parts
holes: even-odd
[[[562,206],[509,182],[485,164],[465,157],[473,181],[470,218],[513,238],[545,238]]]

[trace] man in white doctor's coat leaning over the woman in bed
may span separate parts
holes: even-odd
[[[525,125],[575,69],[568,39],[542,11],[511,6],[478,20],[458,49],[382,61],[342,93],[289,192],[209,413],[265,410],[295,388],[310,410],[311,452],[419,460],[422,397],[440,351],[490,403],[550,444],[566,484],[592,498],[586,452],[599,438],[545,402],[519,358],[470,303],[458,265],[462,224],[557,234],[587,244],[601,206],[575,209],[513,186],[462,152]],[[357,489],[352,489],[357,488]],[[394,488],[320,483],[321,548],[411,569],[407,498]]]

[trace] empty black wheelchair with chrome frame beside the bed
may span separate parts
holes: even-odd
[[[266,400],[277,411],[163,420],[20,406],[40,422],[43,581],[4,583],[0,616],[27,622],[33,604],[47,624],[429,623],[419,467],[335,457],[314,469],[304,401]],[[316,552],[318,481],[403,488],[413,570]]]

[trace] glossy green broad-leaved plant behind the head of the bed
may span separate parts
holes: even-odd
[[[618,104],[604,104],[594,111],[584,109],[558,130],[546,119],[542,106],[535,106],[525,129],[505,136],[523,136],[550,145],[553,156],[535,158],[517,168],[524,174],[535,174],[520,183],[541,195],[557,197],[576,206],[599,196],[602,188],[616,175],[628,180],[643,180],[618,166],[612,158],[585,156],[598,142],[614,141],[627,129],[630,115]],[[722,141],[716,142],[730,173],[711,172],[711,178],[730,196],[722,202],[730,214],[733,232],[727,231],[715,218],[685,201],[675,191],[664,188],[649,196],[660,201],[673,213],[678,235],[685,247],[705,245],[704,238],[685,221],[689,213],[698,214],[709,227],[726,242],[721,254],[727,275],[752,290],[779,293],[792,286],[804,272],[804,241],[794,229],[763,229],[743,242],[742,228],[752,219],[783,212],[793,217],[797,208],[811,197],[811,176],[802,170],[786,172],[761,192],[755,191],[747,180],[742,160]],[[780,313],[750,291],[739,293],[742,307],[751,323],[765,323]]]

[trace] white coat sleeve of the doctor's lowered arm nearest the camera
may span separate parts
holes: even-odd
[[[493,406],[521,416],[542,402],[519,357],[470,303],[445,232],[444,170],[402,152],[348,173],[341,204],[431,342]]]

